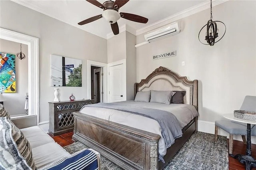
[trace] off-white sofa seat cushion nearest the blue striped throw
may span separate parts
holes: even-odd
[[[66,150],[64,150],[55,142],[50,142],[48,144],[32,148],[32,153],[36,168],[38,169],[70,155],[68,152],[66,152]]]

